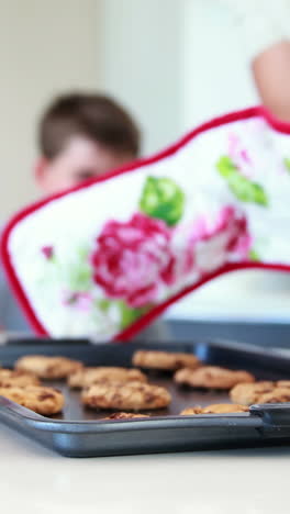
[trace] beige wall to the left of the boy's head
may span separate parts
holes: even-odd
[[[35,123],[51,98],[98,85],[98,1],[0,0],[0,223],[35,197]]]

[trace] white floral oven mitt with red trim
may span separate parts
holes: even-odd
[[[18,213],[1,256],[35,332],[129,339],[219,275],[289,271],[289,134],[263,108],[226,114]]]

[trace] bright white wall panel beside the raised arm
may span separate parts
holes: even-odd
[[[243,1],[243,0],[241,0]],[[219,0],[182,0],[182,122],[185,128],[258,102],[243,34]]]

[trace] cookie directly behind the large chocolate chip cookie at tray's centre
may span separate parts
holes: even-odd
[[[68,377],[68,386],[80,389],[93,383],[105,382],[147,382],[147,377],[138,369],[98,367],[83,368],[75,371]]]

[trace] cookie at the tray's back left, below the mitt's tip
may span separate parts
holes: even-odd
[[[46,357],[44,355],[27,355],[21,357],[15,364],[16,369],[51,380],[65,379],[82,367],[83,365],[78,360],[67,357]]]

